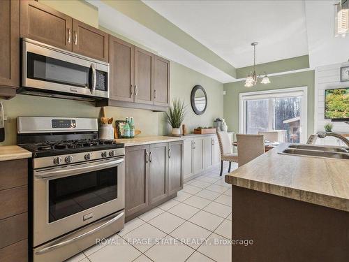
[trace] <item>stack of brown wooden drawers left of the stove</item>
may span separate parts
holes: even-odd
[[[0,161],[0,261],[28,261],[28,161]]]

